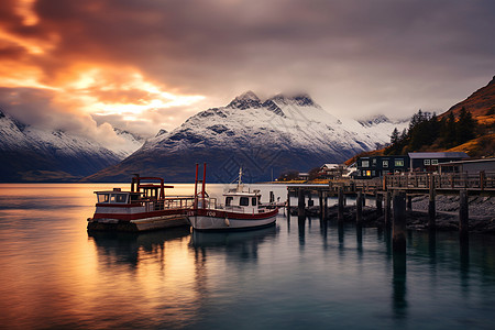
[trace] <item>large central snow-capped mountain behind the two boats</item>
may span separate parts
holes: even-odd
[[[262,101],[249,91],[226,107],[190,117],[172,132],[161,132],[119,165],[88,179],[127,180],[141,173],[191,182],[195,163],[206,162],[210,182],[235,178],[240,166],[246,180],[263,180],[272,173],[343,162],[388,143],[393,130],[386,118],[370,124],[338,119],[307,95]]]

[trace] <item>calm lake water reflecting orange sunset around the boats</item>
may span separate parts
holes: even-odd
[[[88,235],[113,186],[0,185],[0,328],[495,329],[493,237],[410,232],[394,255],[386,232],[284,211],[249,232]]]

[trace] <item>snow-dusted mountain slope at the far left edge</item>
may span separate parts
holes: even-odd
[[[96,142],[35,129],[2,111],[0,155],[0,182],[74,180],[121,160]]]

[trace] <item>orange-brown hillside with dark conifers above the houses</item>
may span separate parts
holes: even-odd
[[[465,152],[472,157],[495,156],[495,77],[440,116],[419,110],[408,129],[394,130],[391,145],[374,153],[397,155],[427,151]]]

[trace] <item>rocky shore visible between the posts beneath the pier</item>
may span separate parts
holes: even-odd
[[[437,196],[437,230],[459,230],[459,196]],[[337,219],[337,206],[329,207],[328,218]],[[470,232],[495,234],[495,198],[470,197]],[[308,216],[319,217],[319,207],[307,209]],[[297,216],[297,208],[290,208],[290,215]],[[428,230],[428,196],[413,198],[413,210],[406,212],[407,228]],[[355,206],[344,207],[344,221],[355,221]],[[374,207],[363,207],[363,227],[381,228],[383,216]]]

